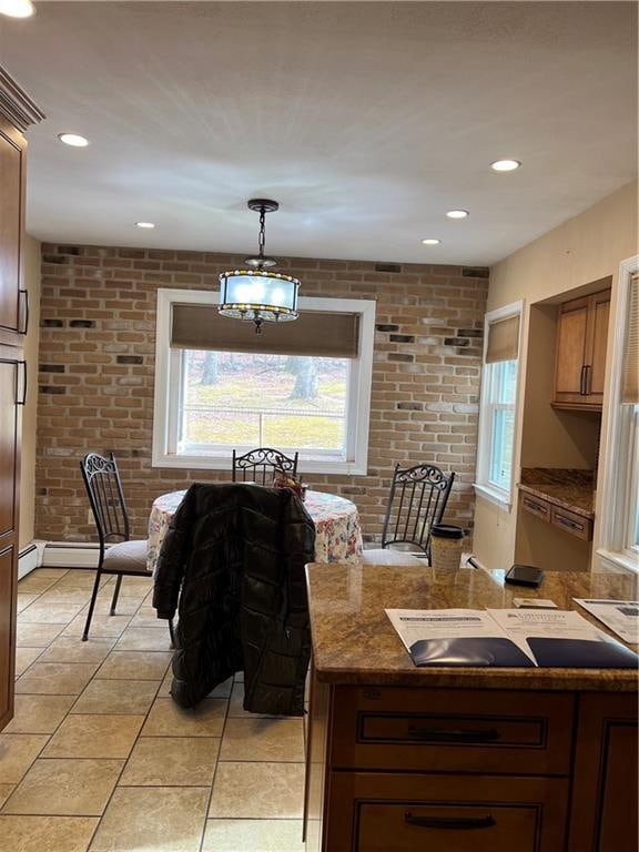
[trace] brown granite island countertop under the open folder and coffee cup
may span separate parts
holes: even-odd
[[[507,608],[514,597],[550,598],[606,628],[572,598],[637,599],[631,575],[547,571],[538,589],[505,586],[503,570],[463,568],[454,585],[425,566],[307,566],[313,661],[318,680],[478,689],[635,691],[631,669],[417,668],[388,617],[389,609]],[[610,631],[607,631],[610,632]],[[612,636],[612,633],[611,633]]]

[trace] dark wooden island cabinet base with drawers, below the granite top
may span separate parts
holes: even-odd
[[[637,697],[312,680],[308,852],[635,852]]]

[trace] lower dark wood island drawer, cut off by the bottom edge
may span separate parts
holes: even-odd
[[[326,852],[557,852],[568,781],[335,772]]]

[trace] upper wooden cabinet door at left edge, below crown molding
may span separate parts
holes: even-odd
[[[13,134],[16,135],[16,134]],[[20,329],[23,150],[0,125],[0,331]],[[3,336],[6,343],[10,338]]]

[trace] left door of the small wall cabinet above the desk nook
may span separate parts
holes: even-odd
[[[566,302],[559,311],[555,402],[584,403],[584,366],[588,332],[588,297]]]

